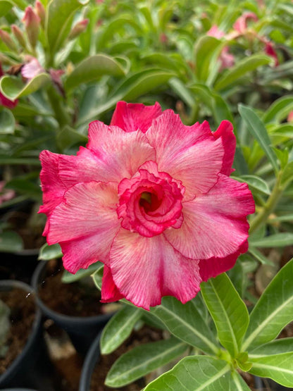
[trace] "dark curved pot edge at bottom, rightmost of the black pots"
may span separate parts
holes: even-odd
[[[101,333],[96,336],[96,338],[92,342],[92,346],[87,352],[87,356],[85,357],[85,361],[82,366],[82,375],[80,376],[79,391],[89,391],[89,387],[92,381],[92,373],[100,357],[100,339]]]

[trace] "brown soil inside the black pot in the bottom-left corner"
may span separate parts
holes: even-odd
[[[8,352],[0,357],[0,374],[11,366],[18,354],[23,351],[35,320],[35,299],[24,290],[15,288],[8,292],[0,291],[0,299],[11,310],[11,328],[6,338]]]

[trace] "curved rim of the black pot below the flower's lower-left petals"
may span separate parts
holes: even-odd
[[[42,301],[42,299],[39,297],[39,292],[38,292],[38,287],[39,287],[39,285],[42,284],[42,283],[39,283],[39,280],[40,280],[39,277],[40,277],[43,269],[45,268],[47,262],[48,261],[40,261],[39,262],[39,265],[37,265],[37,268],[35,268],[35,272],[32,275],[32,281],[31,281],[32,287],[35,290],[35,297],[37,300],[37,304],[42,309],[44,314],[46,314],[49,317],[53,316],[56,320],[59,320],[61,322],[62,321],[66,321],[66,322],[70,321],[70,323],[73,325],[75,323],[76,323],[76,325],[78,325],[81,322],[86,323],[88,325],[90,325],[91,323],[94,324],[94,323],[96,323],[98,318],[100,321],[107,321],[108,318],[113,315],[113,313],[111,313],[111,314],[97,314],[97,315],[90,315],[90,316],[72,316],[72,315],[61,314],[60,312],[57,312],[54,309],[51,309],[49,306],[47,306]]]

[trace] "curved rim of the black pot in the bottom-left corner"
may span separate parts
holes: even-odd
[[[29,294],[35,294],[35,290],[30,285],[27,285],[26,283],[23,283],[22,281],[18,281],[18,280],[0,280],[0,291],[2,287],[12,287],[12,288],[16,287],[24,290]],[[35,333],[37,333],[41,320],[42,320],[42,314],[37,306],[37,300],[35,295],[35,319],[34,322],[32,323],[30,335],[27,338],[27,342],[25,343],[25,346],[23,347],[20,354],[18,354],[18,356],[13,361],[13,363],[10,366],[8,366],[6,371],[0,375],[0,387],[1,387],[1,383],[5,383],[5,381],[11,377],[11,374],[18,367],[20,361],[23,359],[23,356],[25,356],[25,354],[27,354],[27,352],[32,347],[32,344],[35,342]]]

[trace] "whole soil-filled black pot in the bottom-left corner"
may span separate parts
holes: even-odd
[[[0,280],[0,311],[0,387],[53,391],[41,312],[32,288],[19,281]]]

